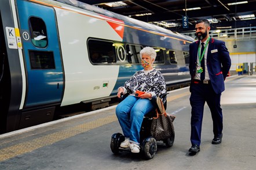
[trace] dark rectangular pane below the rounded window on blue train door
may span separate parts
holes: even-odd
[[[29,51],[31,69],[55,69],[53,51]]]

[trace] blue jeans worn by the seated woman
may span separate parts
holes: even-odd
[[[127,96],[125,100],[118,104],[116,116],[126,138],[140,143],[140,129],[144,115],[153,108],[149,99],[141,99],[136,96]]]

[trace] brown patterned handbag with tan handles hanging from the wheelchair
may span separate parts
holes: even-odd
[[[156,141],[161,141],[163,139],[171,138],[174,135],[173,121],[175,116],[166,114],[163,101],[160,97],[157,100],[159,109],[156,108],[156,117],[153,117],[152,119],[151,135],[156,139]]]

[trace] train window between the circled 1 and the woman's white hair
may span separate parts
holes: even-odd
[[[126,45],[126,56],[129,63],[140,63],[140,51],[142,46]]]

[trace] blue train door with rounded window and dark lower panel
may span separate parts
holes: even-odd
[[[17,0],[27,76],[24,107],[60,104],[63,66],[53,7]]]

